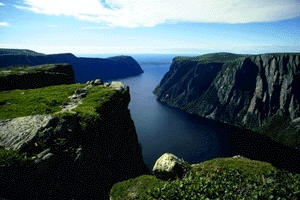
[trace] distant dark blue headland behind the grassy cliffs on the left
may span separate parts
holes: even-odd
[[[130,56],[78,58],[71,53],[45,55],[31,50],[0,49],[0,68],[56,63],[70,63],[75,72],[75,82],[80,83],[97,78],[107,81],[143,73],[141,66]]]

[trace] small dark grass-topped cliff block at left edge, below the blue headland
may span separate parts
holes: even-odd
[[[0,68],[0,90],[29,89],[75,83],[69,64]]]

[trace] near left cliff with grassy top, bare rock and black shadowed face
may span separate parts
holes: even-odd
[[[148,174],[120,82],[0,91],[0,197],[108,199]]]

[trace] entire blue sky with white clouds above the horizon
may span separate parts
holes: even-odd
[[[0,48],[300,52],[300,0],[0,0]]]

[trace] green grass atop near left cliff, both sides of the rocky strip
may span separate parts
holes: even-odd
[[[61,111],[63,102],[68,102],[68,97],[85,84],[71,84],[49,86],[38,89],[0,91],[0,119],[10,119],[37,114],[54,114]],[[88,95],[83,99],[83,104],[73,111],[83,118],[93,118],[98,114],[96,109],[101,107],[110,96],[114,94],[110,88],[95,86],[88,90]],[[60,113],[56,116],[72,115]]]

